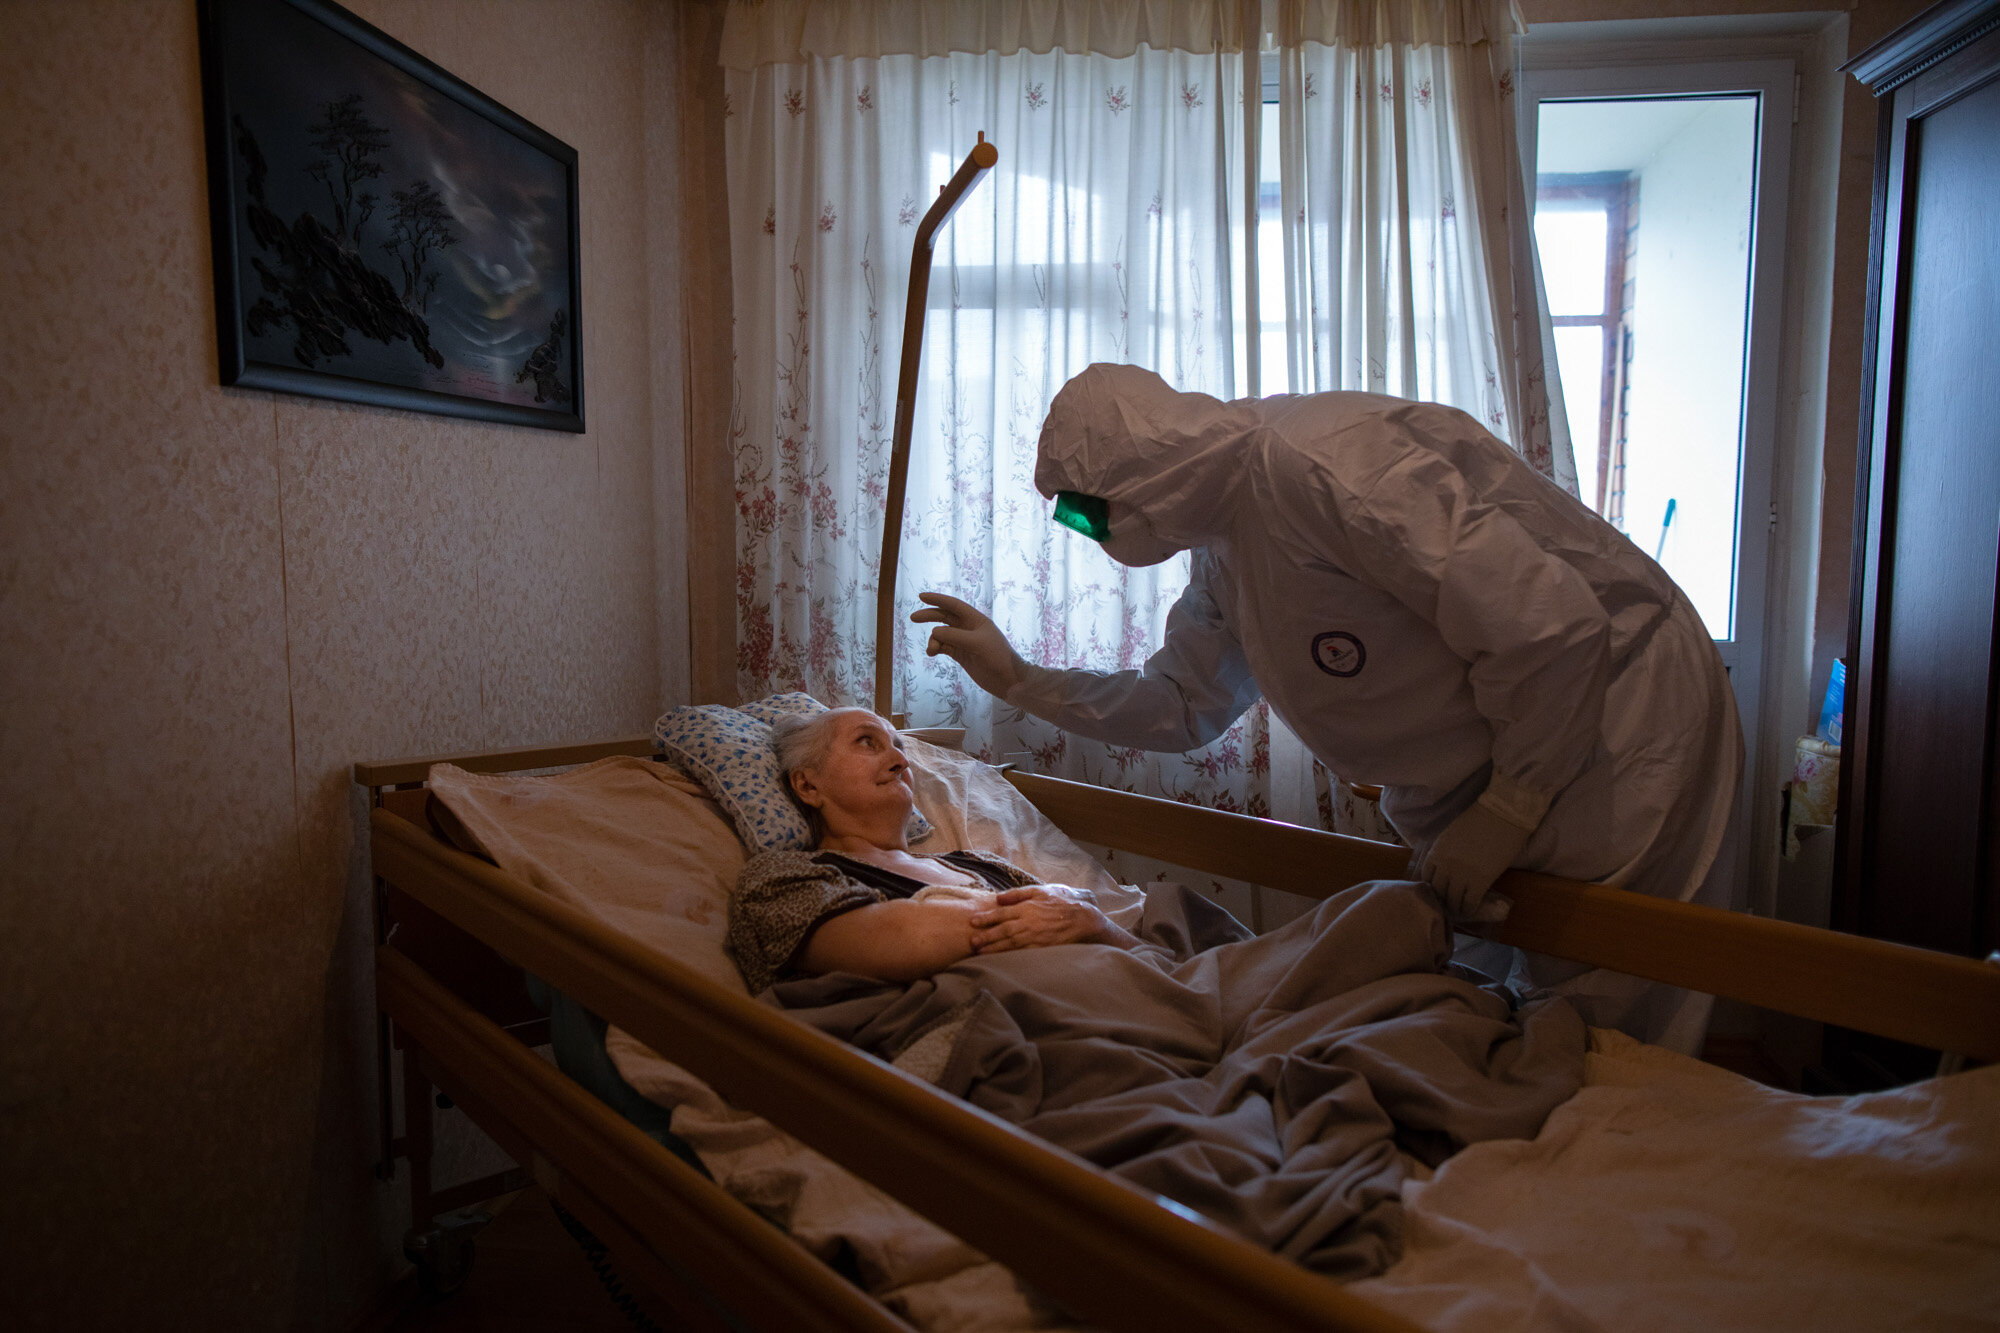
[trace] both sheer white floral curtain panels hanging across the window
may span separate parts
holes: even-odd
[[[1158,644],[1186,560],[1114,564],[1050,522],[1030,478],[1050,398],[1094,360],[1246,392],[1230,314],[1250,272],[1232,30],[1246,8],[730,10],[744,697],[870,699],[910,242],[984,130],[1000,162],[942,230],[924,314],[896,707],[916,725],[966,727],[966,749],[988,761],[1270,813],[1262,705],[1204,751],[1112,749],[1006,709],[926,658],[904,618],[934,588],[988,608],[1044,664],[1126,669]],[[1274,14],[1292,382],[1462,406],[1574,488],[1542,376],[1508,6],[1284,0]],[[1338,823],[1338,797],[1322,775],[1318,801],[1298,791],[1282,805]],[[1252,907],[1242,915],[1264,915]]]

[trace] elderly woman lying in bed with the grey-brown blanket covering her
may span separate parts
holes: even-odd
[[[996,857],[912,855],[876,715],[790,725],[778,751],[818,847],[742,871],[752,991],[1310,1269],[1378,1273],[1418,1163],[1532,1137],[1582,1081],[1576,1013],[1456,975],[1426,885],[1356,885],[1264,935],[1148,885],[1134,937]],[[1082,943],[1110,947],[1050,947]]]

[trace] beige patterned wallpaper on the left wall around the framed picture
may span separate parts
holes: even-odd
[[[578,148],[588,434],[218,388],[192,0],[0,4],[0,1157],[34,1327],[344,1327],[402,1225],[346,767],[640,733],[686,681],[660,12],[352,8]]]

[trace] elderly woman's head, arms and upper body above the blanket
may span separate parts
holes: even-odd
[[[818,849],[768,851],[742,869],[730,951],[752,991],[792,975],[914,981],[972,955],[1138,945],[1082,889],[1038,885],[986,853],[912,853],[910,765],[868,709],[786,719],[776,745]]]

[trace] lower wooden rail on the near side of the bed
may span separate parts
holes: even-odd
[[[436,1061],[440,1087],[548,1193],[574,1181],[618,1217],[672,1237],[674,1257],[756,1327],[908,1333],[796,1241],[648,1139],[392,945],[376,949],[382,1009]],[[554,1167],[556,1179],[536,1161]]]

